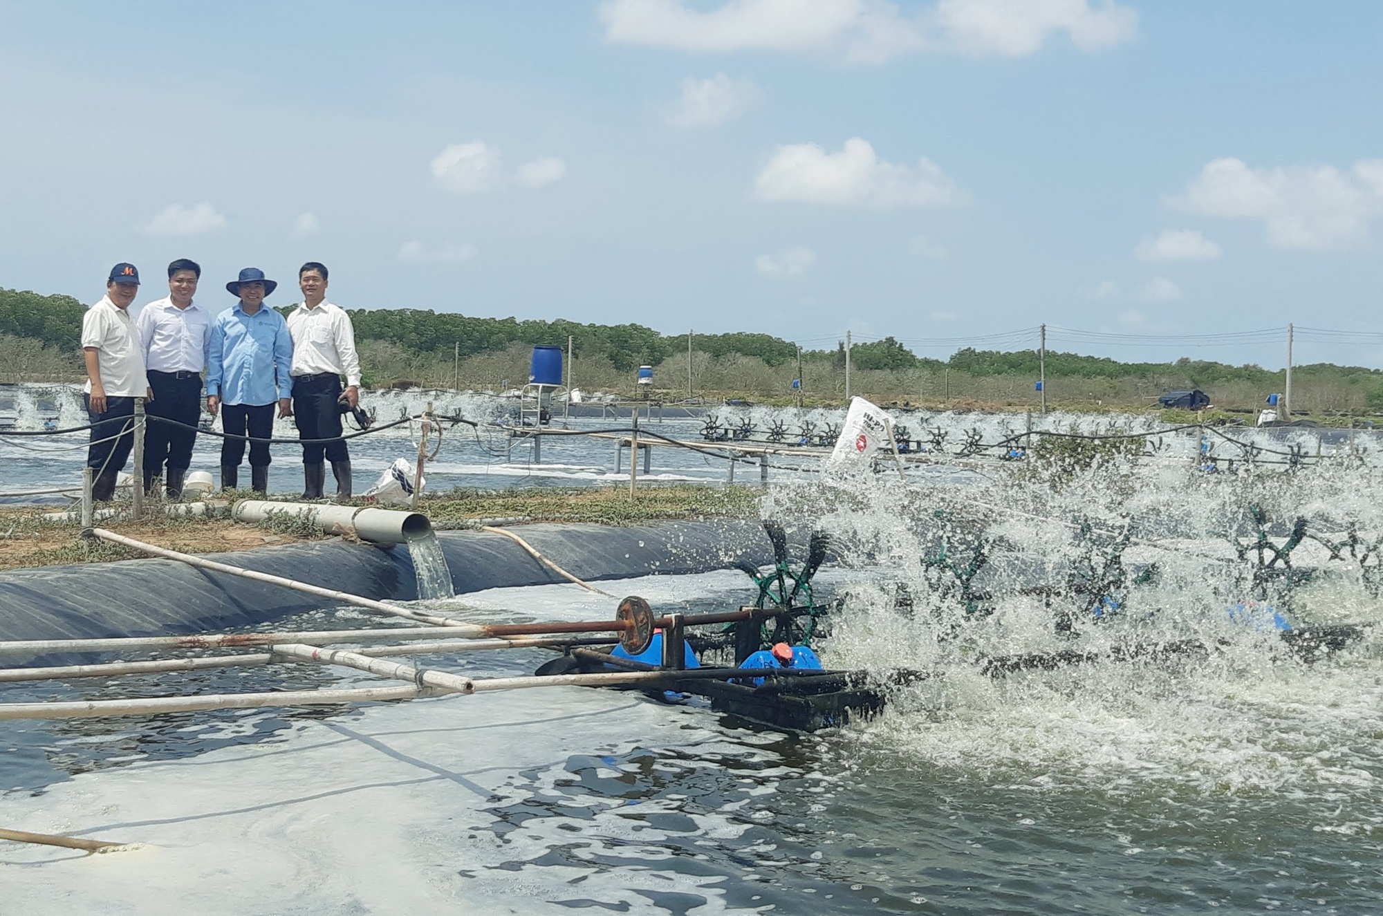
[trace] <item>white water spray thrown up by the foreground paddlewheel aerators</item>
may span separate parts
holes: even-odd
[[[1212,475],[1112,455],[907,483],[828,473],[774,487],[763,513],[812,520],[857,573],[822,646],[830,667],[931,674],[855,732],[862,747],[938,779],[1130,803],[1296,796],[1322,830],[1371,832],[1383,825],[1383,609],[1366,549],[1383,537],[1380,484],[1383,470],[1343,457]],[[1256,538],[1285,548],[1297,519],[1310,537],[1289,559],[1301,576],[1261,566]],[[1236,619],[1241,605],[1297,628],[1364,627],[1348,649],[1306,663],[1263,617]],[[1198,650],[1111,660],[1178,641]],[[994,656],[1055,652],[1101,660],[982,672]]]

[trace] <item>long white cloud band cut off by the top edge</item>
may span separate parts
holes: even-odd
[[[1023,57],[1055,33],[1094,51],[1133,39],[1138,14],[1112,0],[939,0],[914,15],[885,0],[606,0],[606,40],[692,53],[816,53],[864,64],[911,51]]]

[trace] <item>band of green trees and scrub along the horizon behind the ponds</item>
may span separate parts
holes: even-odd
[[[71,296],[0,289],[0,381],[77,381],[84,306]],[[420,309],[350,313],[368,387],[390,385],[498,390],[528,378],[535,345],[573,340],[573,383],[633,396],[633,372],[654,367],[654,396],[748,397],[797,403],[797,346],[766,333],[664,335],[638,324],[479,318]],[[839,404],[845,345],[806,350],[802,394],[808,405]],[[1032,407],[1039,374],[1034,350],[957,350],[949,360],[918,357],[895,338],[851,350],[851,393],[892,405]],[[1281,371],[1182,357],[1173,363],[1120,363],[1077,353],[1047,353],[1047,403],[1065,408],[1151,408],[1174,389],[1206,390],[1218,408],[1253,411],[1283,387]],[[1293,371],[1293,407],[1321,412],[1383,411],[1383,372],[1332,364]]]

